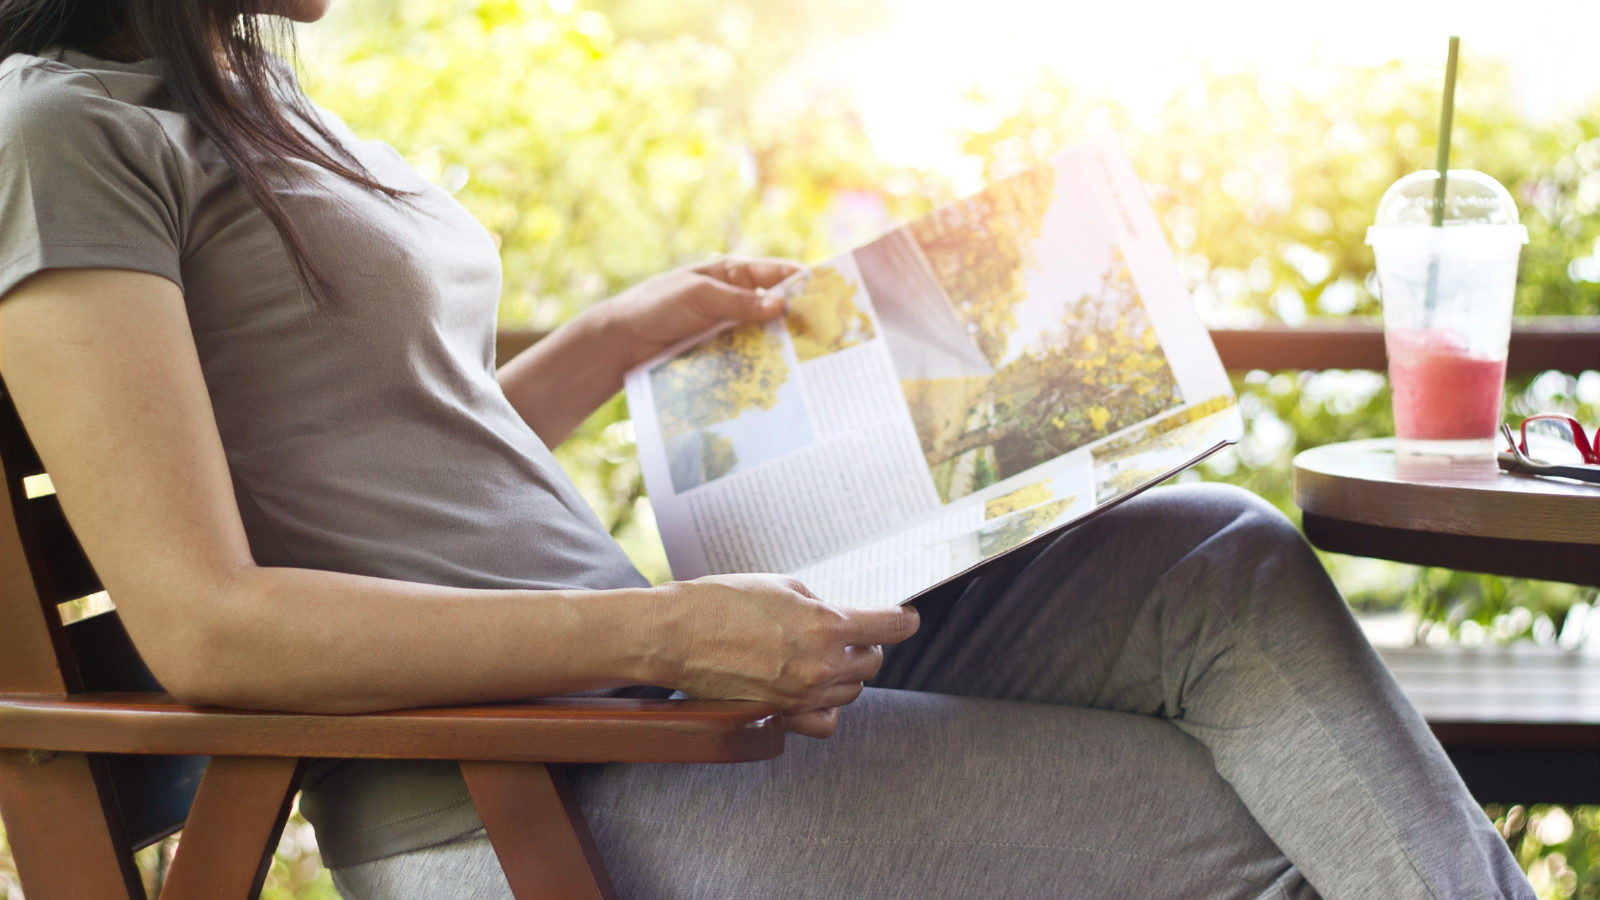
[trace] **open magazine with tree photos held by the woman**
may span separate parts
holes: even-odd
[[[632,370],[675,578],[891,605],[1238,440],[1222,364],[1114,139],[776,288]]]

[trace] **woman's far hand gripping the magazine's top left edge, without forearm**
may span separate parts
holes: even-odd
[[[595,307],[627,368],[718,322],[766,322],[782,303],[766,288],[800,271],[787,259],[722,256],[643,280]]]

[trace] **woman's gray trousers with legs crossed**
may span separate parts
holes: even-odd
[[[922,604],[829,740],[573,788],[672,898],[1531,898],[1294,527],[1154,490]],[[509,898],[482,831],[336,870],[350,900]]]

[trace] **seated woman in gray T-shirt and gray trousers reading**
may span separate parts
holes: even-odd
[[[488,235],[262,51],[251,13],[320,0],[254,3],[0,0],[0,375],[176,697],[682,690],[810,738],[854,703],[768,762],[574,772],[624,897],[1531,897],[1242,492],[1152,492],[920,629],[650,588],[546,447],[792,266],[669,272],[494,373]],[[346,897],[509,895],[454,764],[320,765],[302,809]]]

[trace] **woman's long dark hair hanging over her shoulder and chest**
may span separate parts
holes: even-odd
[[[318,301],[336,290],[318,269],[274,179],[293,178],[291,160],[322,167],[392,199],[350,155],[294,82],[294,32],[278,14],[288,0],[0,0],[0,59],[69,46],[125,61],[155,58],[178,109],[187,114],[234,168],[290,255],[301,283]],[[283,56],[274,53],[278,50]],[[318,147],[291,122],[304,122]]]

